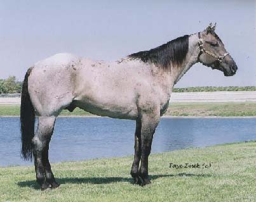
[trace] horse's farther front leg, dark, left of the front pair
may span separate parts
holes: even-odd
[[[134,142],[134,160],[131,167],[131,177],[134,179],[134,184],[140,184],[140,179],[138,177],[138,167],[141,157],[141,122],[136,120],[136,130],[135,130],[135,142]]]

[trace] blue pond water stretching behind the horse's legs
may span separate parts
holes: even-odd
[[[20,118],[0,117],[0,166],[32,165],[20,158]],[[135,122],[59,117],[50,161],[133,155]],[[256,118],[161,118],[152,153],[256,139]]]

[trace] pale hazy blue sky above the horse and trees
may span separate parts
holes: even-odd
[[[24,79],[56,53],[115,61],[217,22],[215,32],[238,65],[233,77],[201,64],[175,87],[256,85],[256,0],[0,0],[0,79]]]

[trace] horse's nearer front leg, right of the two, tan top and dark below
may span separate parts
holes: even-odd
[[[151,153],[151,144],[154,132],[158,126],[160,120],[160,113],[158,110],[152,111],[152,113],[142,114],[142,129],[141,129],[141,163],[139,176],[143,180],[141,183],[142,186],[150,184],[149,175],[148,175],[148,158]]]

